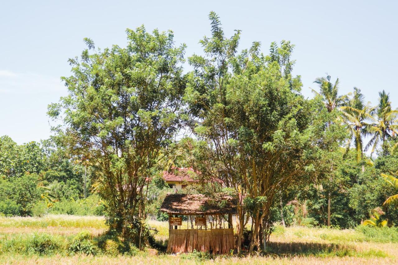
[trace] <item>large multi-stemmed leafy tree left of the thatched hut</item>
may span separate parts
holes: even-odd
[[[88,49],[69,60],[73,75],[62,78],[68,96],[48,113],[62,119],[56,129],[69,151],[95,171],[110,229],[140,245],[148,177],[180,127],[185,46],[175,47],[172,31],[126,32],[126,48],[96,50],[85,39]]]

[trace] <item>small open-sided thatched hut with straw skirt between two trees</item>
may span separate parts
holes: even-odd
[[[230,197],[222,199],[222,206],[216,206],[202,194],[166,195],[160,210],[169,215],[167,252],[185,253],[196,249],[230,253],[234,249],[232,213],[235,207]]]

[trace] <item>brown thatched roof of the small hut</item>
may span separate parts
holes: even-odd
[[[160,210],[171,214],[232,214],[235,206],[232,198],[222,196],[222,207],[211,203],[211,198],[203,194],[168,194]]]

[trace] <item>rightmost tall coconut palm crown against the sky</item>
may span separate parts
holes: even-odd
[[[384,90],[378,95],[379,103],[373,118],[373,136],[365,146],[365,151],[372,147],[371,153],[375,152],[379,144],[383,144],[384,141],[398,134],[398,110],[392,109],[390,95]]]

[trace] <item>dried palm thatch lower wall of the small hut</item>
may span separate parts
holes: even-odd
[[[228,254],[234,249],[234,229],[170,229],[167,252],[185,253],[209,251],[214,254]]]

